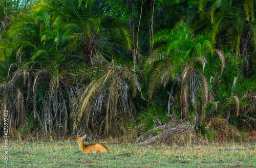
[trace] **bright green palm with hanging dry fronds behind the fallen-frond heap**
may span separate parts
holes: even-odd
[[[197,122],[201,112],[201,121],[205,118],[208,101],[208,85],[204,73],[205,65],[214,53],[214,47],[208,35],[195,36],[189,27],[178,23],[174,30],[162,30],[155,34],[152,43],[158,48],[146,61],[146,72],[152,71],[150,82],[150,99],[163,86],[180,85],[176,98],[170,89],[169,104],[180,101],[181,118],[188,118],[189,111],[196,111],[193,118]],[[203,89],[203,108],[199,111],[197,103],[199,89]]]

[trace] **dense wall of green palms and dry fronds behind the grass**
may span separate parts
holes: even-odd
[[[256,124],[253,0],[0,0],[0,127],[104,136]],[[153,133],[159,133],[159,129]]]

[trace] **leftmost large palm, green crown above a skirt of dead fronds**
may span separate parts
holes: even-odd
[[[32,110],[44,136],[56,128],[63,127],[59,135],[67,132],[71,88],[66,80],[74,68],[67,52],[70,32],[63,29],[61,22],[51,24],[44,12],[20,15],[8,31],[16,70],[7,76],[10,79],[3,91],[1,108],[3,111],[7,104],[13,104],[12,127],[22,126]]]

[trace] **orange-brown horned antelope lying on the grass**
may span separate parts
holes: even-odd
[[[81,127],[79,132],[81,131]],[[81,137],[81,135],[84,133],[84,128],[83,128],[83,133],[79,135],[79,132],[77,132],[77,137],[76,137],[76,144],[79,144],[79,149],[80,151],[84,152],[84,153],[98,153],[98,152],[102,152],[102,153],[109,153],[109,150],[103,145],[103,144],[90,144],[90,145],[84,145],[83,144],[83,139],[86,137],[86,135],[84,135],[83,137]]]

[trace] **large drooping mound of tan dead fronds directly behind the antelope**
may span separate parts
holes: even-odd
[[[134,118],[132,97],[137,91],[141,94],[135,72],[125,65],[116,65],[114,61],[105,61],[105,64],[93,68],[91,73],[98,75],[77,92],[71,114],[74,129],[84,125],[105,135],[126,132],[124,123]]]

